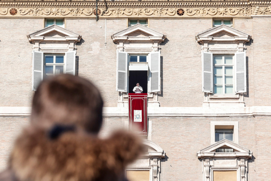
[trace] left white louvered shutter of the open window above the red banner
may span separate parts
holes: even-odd
[[[117,91],[127,92],[128,54],[117,52]]]

